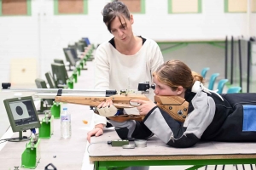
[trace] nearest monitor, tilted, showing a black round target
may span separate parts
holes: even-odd
[[[13,132],[41,127],[32,96],[3,100]]]

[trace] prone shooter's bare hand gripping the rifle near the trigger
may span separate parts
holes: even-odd
[[[139,111],[140,115],[147,115],[148,112],[156,106],[151,100],[145,101],[142,99],[131,99],[131,102],[136,102],[139,104],[139,106],[137,106],[137,110]]]

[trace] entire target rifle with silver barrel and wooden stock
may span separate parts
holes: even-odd
[[[2,83],[3,91],[10,90],[10,83]],[[137,103],[131,103],[131,99],[149,99],[144,95],[148,94],[148,89],[154,88],[149,86],[148,82],[142,82],[138,85],[138,91],[141,94],[135,94],[132,90],[121,90],[118,94],[116,90],[79,90],[79,89],[57,89],[57,88],[36,88],[36,89],[12,89],[12,91],[34,91],[35,97],[41,99],[55,99],[55,102],[64,102],[78,105],[90,105],[90,108],[96,108],[103,101],[112,99],[113,105],[118,109],[137,107]],[[155,104],[163,111],[166,111],[172,118],[178,122],[184,122],[188,115],[189,103],[178,96],[154,96]],[[96,112],[96,110],[94,110]],[[140,115],[119,115],[109,116],[108,118],[124,122],[127,120],[142,121],[144,116]]]

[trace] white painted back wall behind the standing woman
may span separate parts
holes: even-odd
[[[53,0],[32,0],[32,16],[0,17],[0,82],[10,80],[10,59],[38,59],[38,77],[50,71],[53,59],[64,59],[62,48],[81,37],[101,43],[112,37],[102,22],[109,0],[88,0],[88,15],[54,15]],[[224,39],[247,35],[247,14],[225,14],[223,0],[202,2],[201,14],[167,14],[167,0],[146,0],[146,14],[134,14],[136,35],[156,41]],[[256,14],[250,15],[256,35]]]

